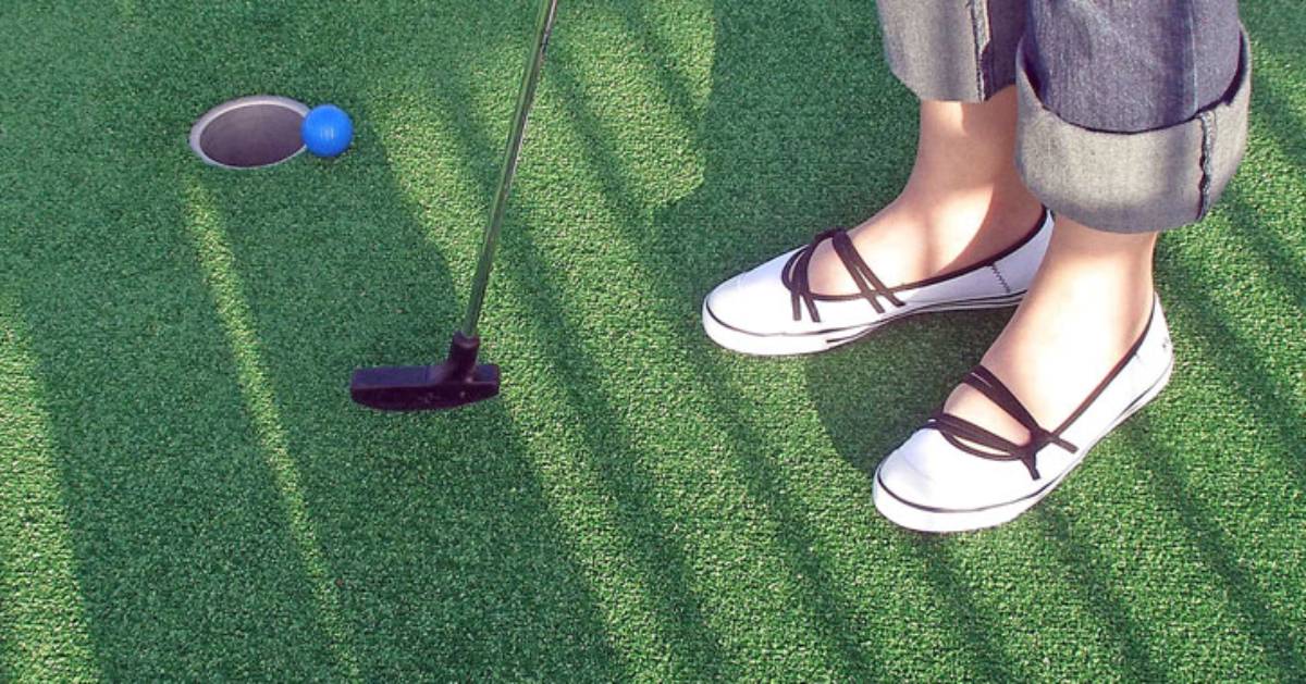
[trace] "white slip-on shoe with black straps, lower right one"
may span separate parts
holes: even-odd
[[[977,365],[963,381],[1020,422],[1029,441],[1013,444],[940,410],[876,469],[875,508],[919,531],[1002,525],[1047,496],[1089,449],[1156,398],[1173,365],[1160,299],[1138,342],[1055,429],[1040,426],[996,376]]]

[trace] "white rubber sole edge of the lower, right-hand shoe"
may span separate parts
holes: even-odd
[[[871,497],[875,501],[875,508],[882,516],[892,521],[893,523],[906,527],[909,530],[922,531],[922,533],[963,533],[970,530],[982,530],[985,527],[995,527],[1004,522],[1015,520],[1017,516],[1033,508],[1038,501],[1042,501],[1045,496],[1050,495],[1053,490],[1057,488],[1066,479],[1072,470],[1075,470],[1088,456],[1088,452],[1097,446],[1097,443],[1102,441],[1106,435],[1121,426],[1121,423],[1128,420],[1131,415],[1138,412],[1140,409],[1147,406],[1165,389],[1166,384],[1170,382],[1170,373],[1174,369],[1174,359],[1166,364],[1165,371],[1161,377],[1149,386],[1143,394],[1135,398],[1121,415],[1111,422],[1096,439],[1093,439],[1079,456],[1071,461],[1070,466],[1057,476],[1057,479],[1045,484],[1041,490],[1030,496],[1019,499],[1016,501],[998,504],[993,506],[986,506],[974,510],[938,510],[932,508],[922,508],[916,504],[910,504],[899,499],[893,492],[891,492],[880,482],[880,469],[875,469],[875,483],[871,490]]]

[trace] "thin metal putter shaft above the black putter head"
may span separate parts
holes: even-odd
[[[490,211],[490,223],[486,226],[485,241],[481,243],[477,274],[471,279],[471,295],[468,298],[468,317],[462,325],[462,334],[468,338],[477,337],[481,309],[486,299],[486,288],[490,286],[490,270],[494,268],[494,253],[499,245],[499,230],[503,227],[504,213],[508,210],[508,194],[512,192],[512,179],[517,174],[517,162],[521,158],[521,144],[526,136],[526,120],[530,117],[530,106],[535,101],[535,89],[539,86],[539,73],[545,67],[545,52],[549,50],[549,37],[554,30],[554,18],[556,16],[558,0],[541,0],[539,17],[535,20],[535,44],[526,59],[521,91],[517,94],[517,116],[513,120],[512,129],[508,132],[503,172],[499,176],[499,192],[495,194],[494,210]]]

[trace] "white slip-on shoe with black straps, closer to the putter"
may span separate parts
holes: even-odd
[[[1008,307],[1029,288],[1051,231],[1051,213],[1045,210],[1024,238],[993,257],[893,287],[871,272],[842,230],[825,231],[717,286],[703,300],[703,329],[722,347],[778,356],[825,351],[913,313]],[[811,291],[807,266],[825,240],[832,240],[858,294]]]

